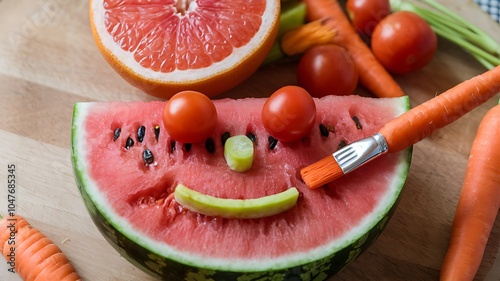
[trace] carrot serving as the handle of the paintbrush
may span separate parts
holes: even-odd
[[[500,66],[488,70],[405,112],[380,129],[389,152],[429,136],[500,92]]]

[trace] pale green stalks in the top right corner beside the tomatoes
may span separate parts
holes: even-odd
[[[402,0],[390,0],[393,11],[410,11],[420,15],[439,36],[468,51],[487,69],[500,65],[500,44],[465,18],[434,0],[420,0],[430,8]]]

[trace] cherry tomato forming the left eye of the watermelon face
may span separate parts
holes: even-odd
[[[210,98],[182,91],[165,104],[163,123],[172,139],[183,143],[205,141],[217,125],[217,110]]]

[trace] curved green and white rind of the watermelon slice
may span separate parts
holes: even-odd
[[[234,266],[234,260],[218,261],[217,263],[201,262],[201,259],[191,260],[181,257],[165,247],[159,247],[154,241],[141,236],[128,222],[120,218],[108,207],[102,196],[98,196],[97,187],[88,177],[86,165],[78,155],[84,155],[84,146],[78,143],[85,139],[85,130],[82,130],[81,121],[85,118],[86,107],[92,103],[77,103],[74,105],[72,126],[72,162],[75,179],[83,201],[91,218],[105,239],[127,260],[143,271],[164,280],[326,280],[329,276],[339,272],[359,254],[366,250],[387,225],[399,202],[406,181],[412,148],[400,153],[398,175],[391,184],[391,198],[380,202],[386,208],[378,210],[374,218],[366,218],[364,223],[347,233],[340,243],[316,249],[313,252],[300,255],[293,259],[282,259],[281,262],[261,262],[246,266]],[[410,108],[407,97],[400,98],[395,104],[400,114]],[[77,137],[79,136],[79,137]],[[357,230],[357,231],[356,231]],[[363,233],[366,233],[363,235]],[[162,249],[163,248],[163,249]],[[326,250],[325,250],[326,249]],[[169,254],[170,252],[170,254]],[[204,259],[203,261],[207,261]],[[275,261],[275,260],[274,260]],[[267,265],[267,266],[262,266]],[[270,265],[270,266],[269,266]],[[260,266],[260,267],[259,267]],[[205,279],[200,279],[200,277]],[[266,279],[262,279],[266,277]]]

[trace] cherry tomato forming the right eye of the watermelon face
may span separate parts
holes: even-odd
[[[262,123],[267,132],[282,142],[307,136],[316,121],[316,104],[298,86],[285,86],[274,92],[262,108]]]

